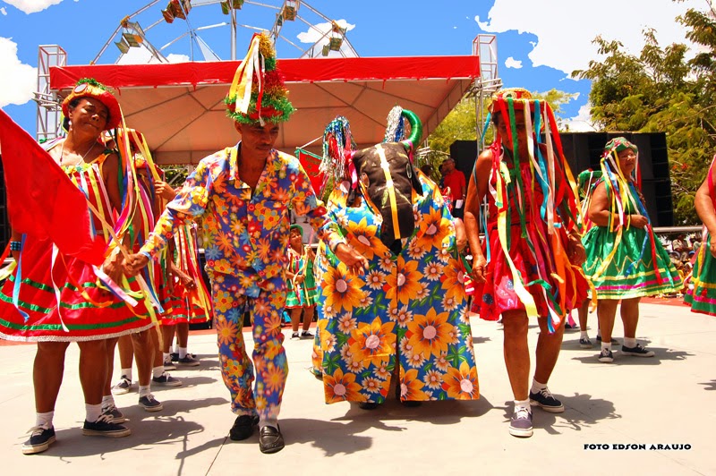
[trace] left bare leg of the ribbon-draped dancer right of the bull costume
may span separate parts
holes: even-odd
[[[515,400],[529,397],[530,352],[527,347],[527,313],[524,310],[507,310],[502,313],[505,333],[503,352],[507,376]]]

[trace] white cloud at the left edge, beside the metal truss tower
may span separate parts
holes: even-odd
[[[17,57],[17,43],[0,37],[0,107],[10,104],[22,105],[32,99],[38,85],[38,69],[22,64]]]

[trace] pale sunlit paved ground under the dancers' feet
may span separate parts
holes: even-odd
[[[590,323],[596,327],[592,315]],[[618,324],[615,336],[622,336]],[[288,331],[285,331],[288,333]],[[530,329],[532,346],[536,326]],[[592,331],[593,340],[593,331]],[[31,366],[34,345],[0,346],[0,455],[4,474],[716,474],[716,319],[686,307],[644,304],[639,339],[653,359],[580,349],[567,331],[550,381],[567,411],[534,410],[533,438],[507,433],[511,397],[502,361],[501,327],[473,319],[482,397],[477,402],[435,402],[405,408],[395,402],[375,412],[351,404],[323,404],[322,387],[307,371],[309,341],[286,340],[291,373],[281,412],[286,449],[261,455],[258,437],[231,442],[234,417],[217,369],[215,337],[192,333],[201,366],[177,370],[183,387],[159,389],[163,412],[148,413],[137,394],[119,395],[130,419],[128,438],[81,435],[84,419],[77,378],[77,348],[68,353],[55,411],[57,442],[41,455],[21,455],[34,423]],[[609,449],[585,449],[589,445]],[[618,450],[614,445],[645,445]],[[690,449],[650,449],[652,445]]]

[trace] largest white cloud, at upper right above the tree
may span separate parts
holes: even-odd
[[[533,66],[550,66],[568,74],[586,69],[590,60],[598,59],[597,47],[592,45],[598,35],[620,41],[632,55],[638,55],[644,46],[645,28],[656,30],[661,47],[687,43],[686,30],[675,19],[689,8],[704,7],[703,0],[550,0],[543,4],[547,6],[534,8],[533,0],[495,0],[489,21],[477,16],[475,21],[488,32],[533,33],[538,38],[528,55]]]

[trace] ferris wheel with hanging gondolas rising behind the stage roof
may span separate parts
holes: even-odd
[[[267,31],[279,57],[353,57],[352,28],[299,0],[154,0],[119,21],[92,64],[235,60],[242,31]]]

